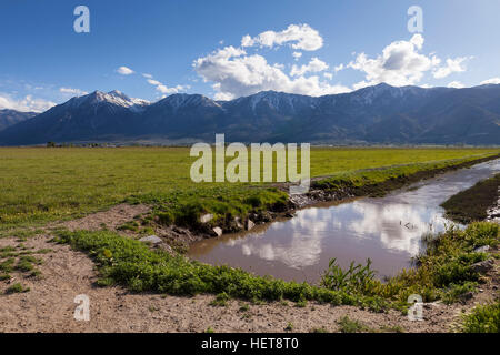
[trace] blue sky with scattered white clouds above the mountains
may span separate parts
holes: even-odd
[[[90,33],[73,30],[80,4]],[[421,33],[408,31],[410,6],[423,11]],[[500,83],[499,33],[493,0],[2,0],[0,108],[114,89],[156,101]]]

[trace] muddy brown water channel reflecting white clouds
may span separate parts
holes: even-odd
[[[189,255],[259,275],[316,283],[337,257],[342,267],[369,257],[379,277],[411,267],[422,250],[421,235],[440,232],[451,221],[439,205],[451,195],[500,171],[500,160],[450,172],[394,191],[301,210],[291,220],[251,232],[228,234],[192,245]]]

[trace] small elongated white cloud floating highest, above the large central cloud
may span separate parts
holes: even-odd
[[[290,24],[281,32],[266,31],[257,37],[244,36],[241,47],[269,47],[283,45],[291,42],[296,50],[317,51],[323,47],[323,39],[317,30],[309,24]]]

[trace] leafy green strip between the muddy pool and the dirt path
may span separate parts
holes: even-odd
[[[99,267],[101,285],[120,284],[134,292],[173,295],[210,293],[220,298],[319,301],[382,311],[390,306],[406,310],[411,294],[420,294],[424,302],[453,302],[461,294],[474,290],[480,274],[472,264],[489,257],[487,253],[476,253],[474,248],[498,245],[499,226],[474,223],[464,231],[451,229],[427,236],[428,247],[418,257],[419,267],[402,271],[384,283],[373,277],[369,265],[352,265],[346,271],[338,267],[333,260],[323,275],[322,286],[201,264],[150,250],[138,241],[108,231],[63,231],[57,241],[88,253]]]

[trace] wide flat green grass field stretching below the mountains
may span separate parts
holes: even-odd
[[[494,149],[312,149],[311,175],[360,183],[389,175],[359,170],[404,165],[390,174],[411,173],[498,153]],[[282,192],[250,184],[196,184],[189,175],[193,161],[187,148],[0,149],[0,230],[71,219],[123,201],[151,203],[173,214],[190,209],[239,214],[286,200]]]

